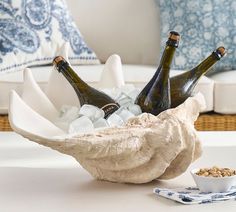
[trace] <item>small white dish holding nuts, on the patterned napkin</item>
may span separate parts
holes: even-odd
[[[202,192],[226,192],[236,184],[236,175],[229,177],[204,177],[196,174],[199,170],[200,168],[193,169],[190,173],[197,187]]]

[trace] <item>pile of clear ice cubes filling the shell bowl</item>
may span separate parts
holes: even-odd
[[[104,111],[93,105],[85,104],[81,108],[63,105],[54,124],[68,133],[89,133],[97,128],[121,126],[129,118],[142,113],[141,108],[134,104],[140,89],[133,85],[102,91],[120,105],[107,119],[104,118]]]

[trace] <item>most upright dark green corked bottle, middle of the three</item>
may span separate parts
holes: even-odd
[[[137,96],[135,103],[141,107],[142,112],[158,115],[162,111],[170,108],[169,72],[175,50],[179,44],[179,39],[180,35],[178,32],[170,32],[159,67],[152,79]]]

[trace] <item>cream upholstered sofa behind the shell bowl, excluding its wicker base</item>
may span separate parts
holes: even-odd
[[[160,57],[159,9],[153,0],[67,0],[69,9],[87,44],[102,63],[111,54],[120,55],[125,81],[144,86],[155,72]],[[32,68],[42,88],[52,66]],[[96,86],[103,65],[76,66],[79,75]],[[178,74],[171,71],[171,75]],[[230,79],[230,82],[228,81]],[[6,114],[11,89],[21,92],[23,73],[0,75],[0,113]],[[236,113],[236,73],[202,77],[196,87],[205,96],[207,108],[219,113]]]

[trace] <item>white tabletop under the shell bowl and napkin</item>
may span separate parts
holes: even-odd
[[[199,132],[203,156],[189,169],[219,165],[236,167],[236,132]],[[0,212],[87,211],[236,211],[236,201],[182,205],[152,193],[155,187],[193,186],[189,174],[143,185],[93,179],[72,157],[0,132]]]

